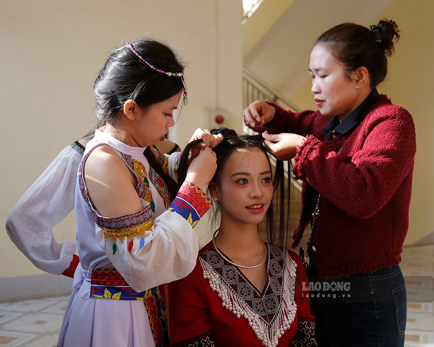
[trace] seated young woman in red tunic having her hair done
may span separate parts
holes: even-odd
[[[199,251],[193,272],[172,287],[171,344],[316,346],[305,268],[296,253],[272,244],[283,243],[286,230],[273,227],[273,180],[262,139],[226,128],[211,133],[223,134],[208,185],[220,227]],[[179,179],[182,167],[183,158]],[[277,167],[274,183],[282,188],[283,166]],[[258,235],[266,214],[271,243]]]

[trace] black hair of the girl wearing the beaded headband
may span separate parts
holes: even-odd
[[[151,39],[137,40],[132,45],[140,56],[161,70],[184,71],[184,65],[166,45]],[[134,100],[140,108],[146,108],[177,95],[183,88],[181,77],[154,71],[128,46],[122,46],[109,55],[93,86],[98,121],[116,127],[127,100]],[[175,199],[179,189],[177,182],[162,169],[149,146],[144,155],[167,184],[171,200]]]

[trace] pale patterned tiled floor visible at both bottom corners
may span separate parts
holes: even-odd
[[[405,347],[434,347],[434,303],[416,302],[433,295],[432,288],[423,288],[426,283],[421,276],[434,277],[434,245],[405,247],[402,259],[412,301],[407,305]],[[55,347],[68,299],[60,296],[0,304],[0,347]]]

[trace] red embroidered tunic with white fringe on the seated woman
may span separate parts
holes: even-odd
[[[267,244],[267,269],[261,293],[211,242],[202,248],[193,272],[171,290],[172,346],[316,346],[300,258]]]

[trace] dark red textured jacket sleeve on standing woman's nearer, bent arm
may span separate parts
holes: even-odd
[[[296,178],[308,181],[354,218],[369,218],[378,212],[414,165],[416,136],[411,115],[394,105],[374,112],[369,126],[358,134],[362,140],[354,140],[362,141],[362,145],[347,156],[308,136],[294,160]]]

